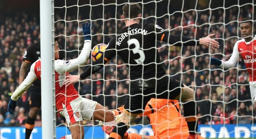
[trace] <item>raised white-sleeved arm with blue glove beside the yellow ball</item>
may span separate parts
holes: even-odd
[[[80,53],[80,55],[76,59],[71,60],[55,60],[55,70],[58,73],[64,73],[66,71],[71,71],[77,69],[80,65],[85,65],[90,55],[91,51],[91,23],[82,23],[83,33],[84,33],[84,47]]]

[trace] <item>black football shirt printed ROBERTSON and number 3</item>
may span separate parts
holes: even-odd
[[[160,78],[166,73],[156,43],[165,33],[163,28],[149,23],[124,27],[110,40],[104,59],[109,61],[118,54],[129,68],[131,80]]]

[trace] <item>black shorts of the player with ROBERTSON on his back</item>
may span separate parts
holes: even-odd
[[[126,97],[124,108],[130,110],[128,112],[136,115],[143,112],[147,102],[151,98],[174,99],[181,93],[184,87],[182,83],[169,79],[168,76],[158,80],[136,80],[130,83],[131,91],[130,95]],[[142,86],[144,86],[143,89]]]

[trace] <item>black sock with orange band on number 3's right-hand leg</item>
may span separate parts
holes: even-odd
[[[196,111],[195,111],[196,108]],[[198,108],[196,102],[188,102],[184,104],[184,116],[196,116],[198,113]],[[196,134],[198,129],[198,120],[197,118],[188,117],[185,118],[188,123],[189,134]]]

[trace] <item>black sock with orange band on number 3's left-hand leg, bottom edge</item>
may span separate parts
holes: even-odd
[[[120,135],[122,138],[124,136],[124,133],[127,131],[127,126],[125,123],[120,122],[117,124],[117,126],[114,127],[111,134],[109,135],[109,139],[115,139],[118,135]],[[117,135],[118,134],[118,135]]]

